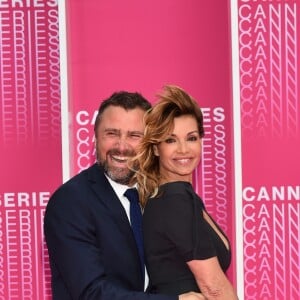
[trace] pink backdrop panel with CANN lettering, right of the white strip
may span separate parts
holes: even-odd
[[[299,1],[239,1],[245,299],[300,299]]]

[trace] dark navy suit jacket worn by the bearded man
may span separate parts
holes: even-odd
[[[44,231],[54,300],[175,300],[143,293],[126,212],[97,164],[50,198]]]

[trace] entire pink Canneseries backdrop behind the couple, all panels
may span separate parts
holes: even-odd
[[[299,300],[300,4],[236,5],[231,71],[229,0],[66,1],[71,175],[94,161],[94,116],[104,98],[125,89],[154,101],[164,84],[182,86],[205,115],[194,184],[232,241],[229,277],[240,299]],[[0,1],[0,300],[51,299],[42,225],[62,183],[58,26],[56,0]],[[232,72],[240,79],[238,199]]]

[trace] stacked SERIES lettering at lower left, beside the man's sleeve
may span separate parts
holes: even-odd
[[[33,299],[37,278],[43,274],[41,260],[47,257],[40,236],[49,198],[50,192],[0,195],[4,208],[0,211],[0,299]]]

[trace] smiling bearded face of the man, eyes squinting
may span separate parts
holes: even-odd
[[[102,114],[96,133],[96,152],[100,165],[114,181],[128,184],[133,172],[128,169],[128,158],[136,154],[143,133],[141,108],[126,111],[109,106]]]

